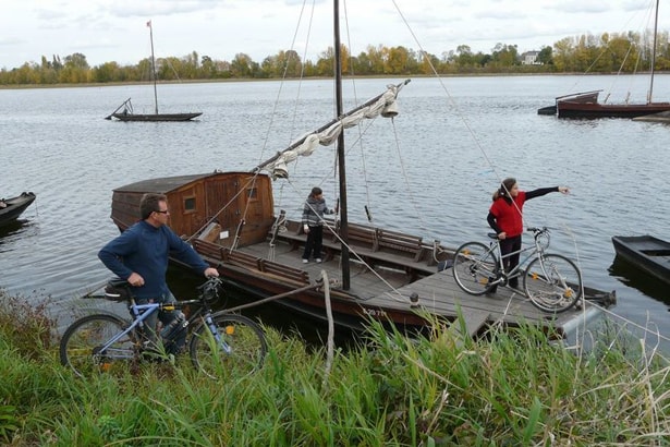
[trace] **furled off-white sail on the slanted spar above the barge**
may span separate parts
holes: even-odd
[[[363,106],[344,114],[342,118],[334,120],[330,125],[326,126],[320,132],[308,134],[302,140],[293,143],[288,149],[277,155],[277,157],[259,166],[257,169],[266,170],[272,179],[287,179],[289,169],[287,165],[295,161],[297,157],[308,157],[317,146],[329,146],[333,144],[340,133],[344,129],[357,125],[363,120],[369,120],[382,116],[392,118],[398,114],[398,105],[395,98],[400,89],[409,82],[405,81],[398,85],[388,85],[387,90],[378,97],[367,101]]]

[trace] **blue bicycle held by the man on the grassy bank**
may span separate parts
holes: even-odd
[[[131,286],[117,279],[111,288],[108,285],[103,294],[86,297],[126,302],[132,319],[112,313],[97,313],[75,321],[61,338],[61,363],[84,377],[113,372],[147,359],[166,360],[165,346],[170,341],[162,340],[160,331],[156,331],[153,338],[147,337],[146,319],[160,310],[181,312],[186,306],[195,306],[187,319],[180,321],[180,325],[172,328],[170,338],[176,336],[175,331],[187,331],[185,346],[193,366],[211,378],[247,374],[263,365],[267,352],[265,333],[243,315],[212,312],[210,303],[219,298],[221,283],[220,278],[209,277],[198,287],[199,294],[195,300],[137,304]]]

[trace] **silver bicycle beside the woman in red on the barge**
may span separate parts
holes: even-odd
[[[507,286],[514,277],[523,277],[523,292],[544,312],[560,313],[571,309],[583,298],[582,274],[577,266],[560,254],[546,253],[549,230],[527,228],[534,244],[502,255],[496,233],[489,246],[482,242],[466,242],[453,257],[453,278],[461,289],[480,295],[498,286]],[[505,271],[503,262],[514,254],[524,254],[512,270]],[[525,269],[522,267],[527,263]]]

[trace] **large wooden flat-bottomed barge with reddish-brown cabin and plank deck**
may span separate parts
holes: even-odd
[[[139,200],[147,192],[168,196],[170,227],[230,286],[258,302],[281,305],[288,322],[294,316],[326,322],[329,295],[332,319],[342,328],[360,330],[374,319],[416,331],[429,329],[435,318],[450,324],[462,316],[473,337],[495,324],[539,325],[563,336],[600,314],[594,301],[616,303],[613,292],[585,288],[581,310],[548,314],[505,287],[494,295],[467,294],[444,268],[452,250],[439,241],[366,225],[348,224],[344,231],[326,222],[322,263],[304,264],[302,225],[284,219],[283,213],[275,215],[270,179],[249,172],[153,179],[119,188],[112,219],[121,231],[137,220]],[[342,263],[343,257],[350,262]],[[349,278],[349,287],[342,278]]]

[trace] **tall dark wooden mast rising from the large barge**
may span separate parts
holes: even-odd
[[[340,3],[333,0],[334,28],[334,81],[336,81],[336,118],[342,116],[342,55],[340,48]],[[346,218],[346,174],[344,170],[344,130],[338,136],[338,167],[340,171],[340,237],[342,238],[342,289],[351,287],[349,269],[349,221]]]

